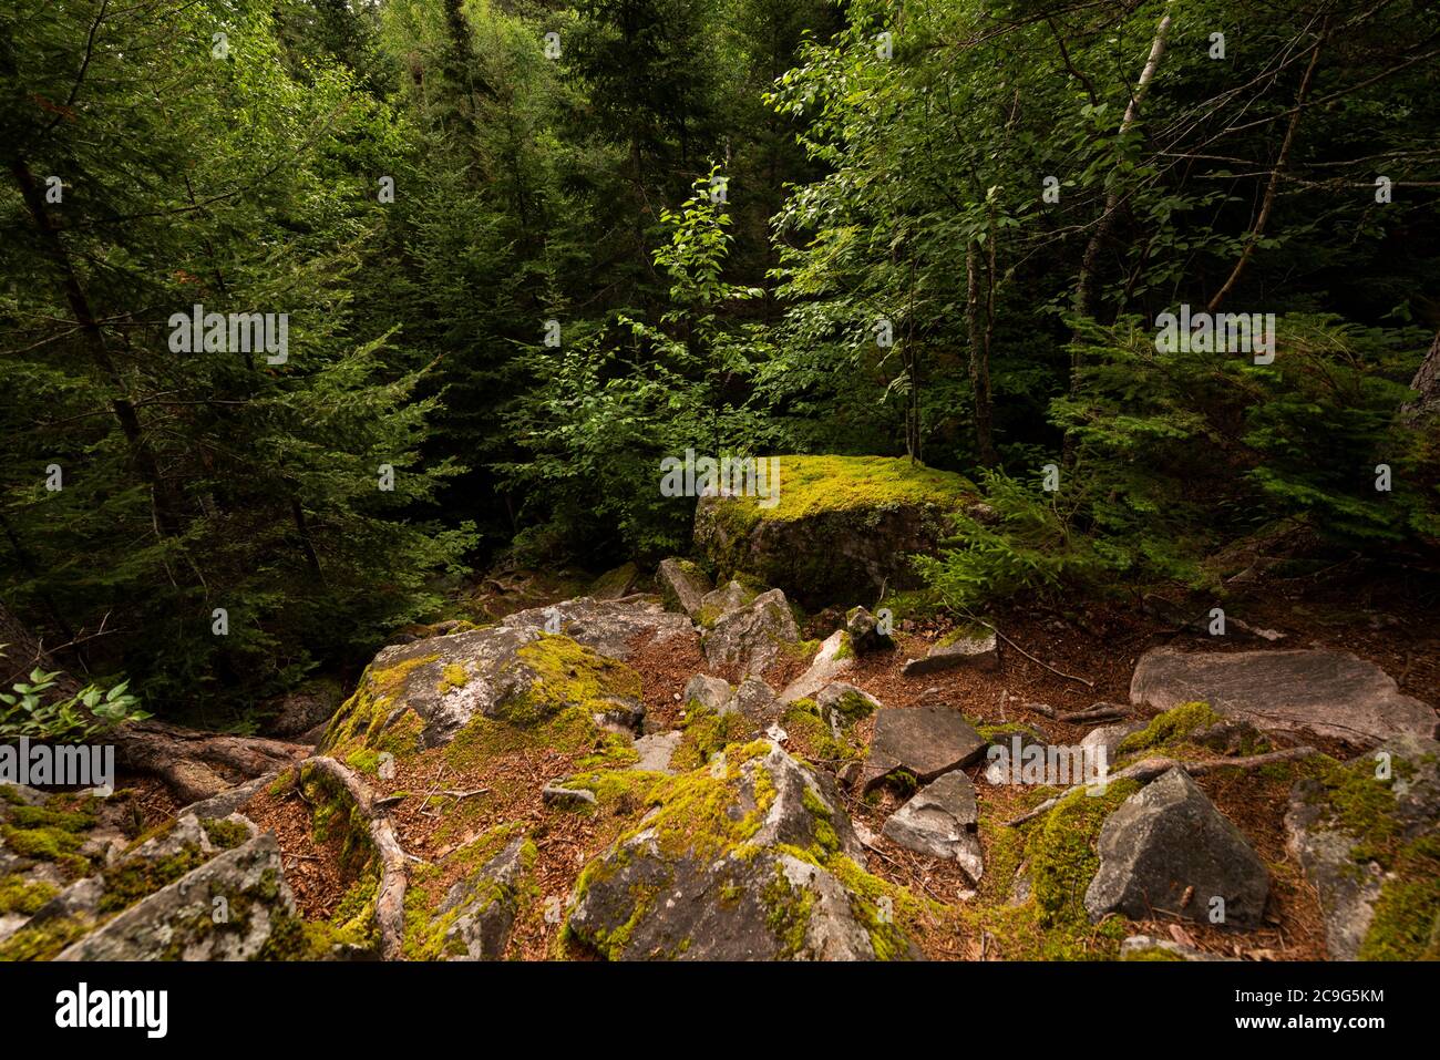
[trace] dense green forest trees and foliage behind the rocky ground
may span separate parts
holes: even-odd
[[[966,472],[952,601],[1431,549],[1437,59],[1428,0],[13,0],[6,603],[243,711],[684,552],[687,448]]]

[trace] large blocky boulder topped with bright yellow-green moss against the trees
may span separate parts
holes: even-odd
[[[719,578],[743,572],[806,606],[913,585],[907,556],[933,550],[946,516],[973,495],[963,477],[904,458],[779,459],[772,507],[756,497],[700,498],[696,546]]]

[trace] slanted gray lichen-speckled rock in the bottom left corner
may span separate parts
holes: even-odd
[[[279,916],[295,916],[295,903],[265,832],[140,900],[56,961],[249,961]]]

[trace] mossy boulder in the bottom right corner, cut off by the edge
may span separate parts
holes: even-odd
[[[1440,959],[1440,743],[1395,737],[1296,782],[1290,853],[1333,961]]]

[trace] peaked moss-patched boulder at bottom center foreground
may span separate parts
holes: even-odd
[[[919,955],[906,896],[864,868],[832,783],[773,743],[649,788],[654,809],[583,870],[569,936],[609,959]]]

